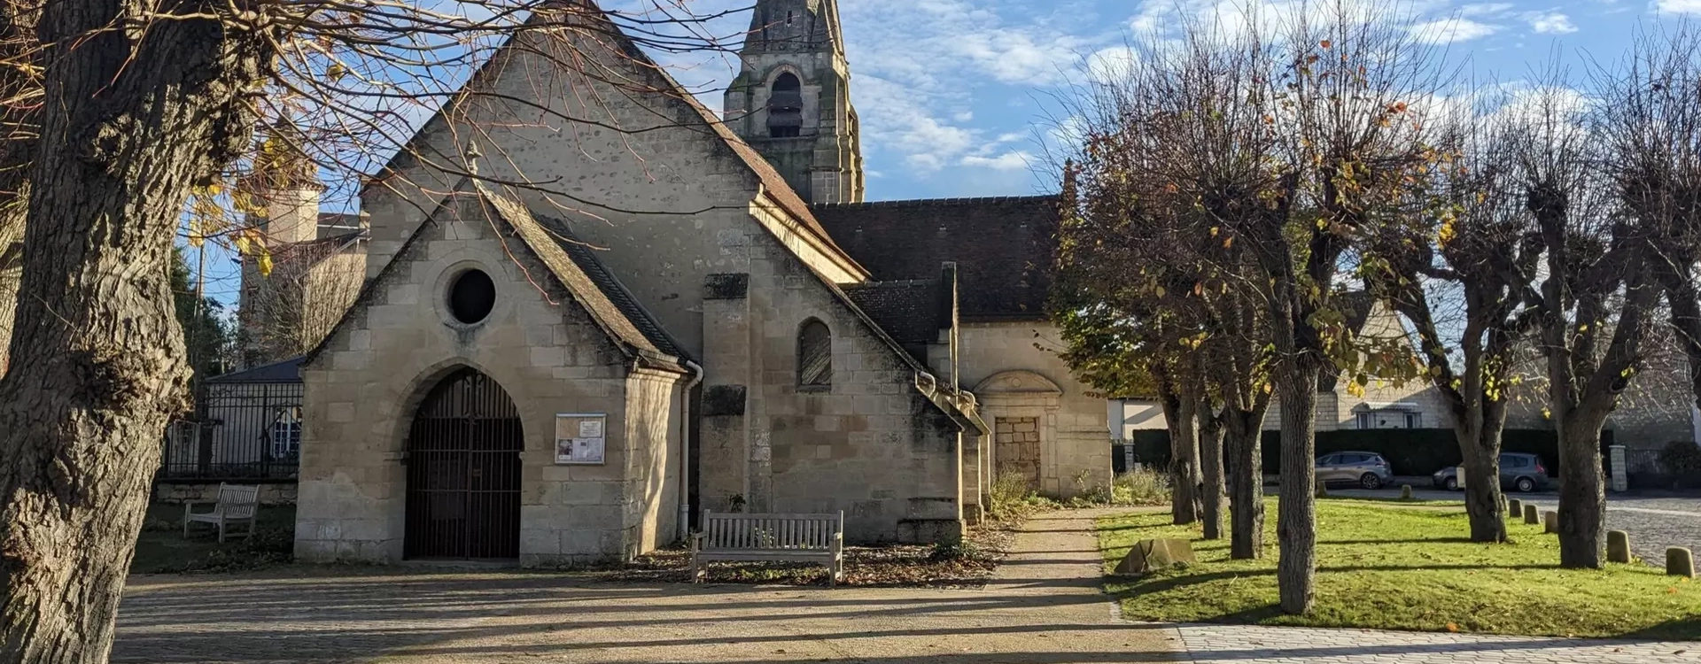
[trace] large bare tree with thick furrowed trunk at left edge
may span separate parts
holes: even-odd
[[[410,151],[407,138],[430,112],[434,122],[461,126],[480,100],[536,107],[481,85],[495,54],[524,54],[560,95],[648,98],[679,93],[643,49],[718,49],[701,17],[660,0],[638,3],[640,14],[604,12],[589,0],[7,7],[10,24],[0,27],[10,32],[0,41],[19,48],[0,53],[10,114],[0,121],[7,155],[19,151],[27,165],[14,172],[17,163],[0,163],[0,175],[20,175],[0,182],[0,195],[26,202],[19,290],[27,297],[17,301],[9,350],[31,358],[0,379],[7,662],[107,657],[160,440],[185,409],[189,369],[167,279],[174,236],[191,195],[230,200],[223,183],[252,170],[255,127],[284,119],[303,127],[310,144],[298,148],[344,182],[393,155],[447,177],[478,177],[461,155]],[[536,115],[629,134],[655,127],[556,109]],[[393,173],[379,182],[400,185]],[[597,204],[551,180],[497,182]],[[0,219],[0,241],[15,238],[15,219]],[[194,234],[265,255],[235,216],[225,219]]]

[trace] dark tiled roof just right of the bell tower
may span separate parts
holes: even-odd
[[[964,321],[1046,316],[1056,255],[1053,195],[813,205],[827,233],[878,280],[929,279],[958,263]]]

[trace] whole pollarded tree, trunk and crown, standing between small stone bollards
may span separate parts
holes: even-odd
[[[1599,98],[1599,97],[1597,97]],[[1611,105],[1606,102],[1604,105]],[[1509,121],[1510,173],[1534,222],[1548,414],[1560,435],[1560,566],[1601,567],[1601,428],[1641,363],[1658,289],[1648,233],[1621,214],[1601,168],[1614,146],[1584,98],[1550,87]]]

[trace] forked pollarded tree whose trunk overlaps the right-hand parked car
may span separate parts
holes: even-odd
[[[1424,374],[1453,419],[1465,475],[1500,477],[1517,353],[1539,314],[1534,284],[1543,248],[1505,161],[1504,121],[1524,109],[1476,110],[1436,124],[1442,136],[1427,190],[1417,194],[1425,214],[1376,228],[1361,275],[1412,323]],[[1471,540],[1505,542],[1500,482],[1465,487]]]

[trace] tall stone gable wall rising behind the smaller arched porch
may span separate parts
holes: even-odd
[[[580,56],[594,75],[560,65]],[[509,190],[602,250],[602,263],[687,353],[701,350],[697,287],[711,273],[745,268],[748,256],[730,238],[752,226],[832,280],[866,279],[784,178],[624,37],[517,36],[452,105],[405,149],[429,158],[398,158],[362,194],[373,226],[369,275],[417,226],[415,205],[447,189],[451,175],[425,161],[458,165],[476,138],[486,155],[480,177],[531,183]]]

